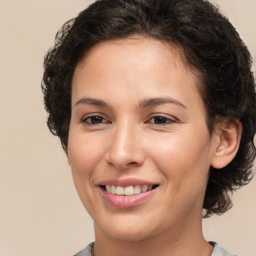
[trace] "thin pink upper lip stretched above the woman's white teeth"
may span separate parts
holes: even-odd
[[[99,185],[115,185],[115,186],[129,186],[129,185],[156,185],[155,182],[150,182],[147,180],[139,178],[115,178],[115,179],[106,179],[99,182]]]

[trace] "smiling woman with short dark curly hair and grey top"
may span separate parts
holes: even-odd
[[[230,255],[201,218],[251,179],[251,57],[203,0],[99,0],[45,56],[48,127],[95,243],[76,255]]]

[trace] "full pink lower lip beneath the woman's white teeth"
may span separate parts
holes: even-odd
[[[103,195],[106,202],[111,206],[118,208],[130,208],[143,203],[154,193],[155,189],[156,188],[133,195],[117,195],[108,193],[106,190],[100,187],[101,194]]]

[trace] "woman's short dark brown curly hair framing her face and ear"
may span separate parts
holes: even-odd
[[[210,134],[221,118],[242,123],[239,149],[221,170],[210,168],[203,217],[232,206],[231,194],[252,177],[255,83],[250,53],[239,34],[207,0],[97,0],[67,21],[44,59],[42,90],[47,125],[67,152],[75,67],[93,45],[134,35],[181,47],[201,81]]]

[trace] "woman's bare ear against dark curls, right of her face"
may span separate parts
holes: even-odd
[[[242,125],[239,120],[225,119],[217,125],[212,167],[223,168],[232,161],[239,148],[241,132]]]

